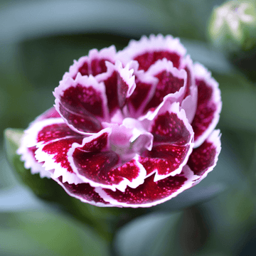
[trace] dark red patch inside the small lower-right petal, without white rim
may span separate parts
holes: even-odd
[[[188,166],[194,174],[202,176],[210,166],[213,166],[216,148],[211,142],[203,142],[197,149],[193,149],[188,159]]]

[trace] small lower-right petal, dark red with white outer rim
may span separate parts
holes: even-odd
[[[217,164],[220,154],[220,130],[214,130],[201,146],[193,149],[188,159],[188,166],[195,175],[201,176],[196,183],[206,178]]]

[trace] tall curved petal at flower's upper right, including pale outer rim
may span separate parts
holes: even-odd
[[[203,65],[195,64],[196,85],[198,86],[198,106],[192,122],[195,132],[195,147],[200,146],[213,132],[220,118],[222,102],[218,82]]]

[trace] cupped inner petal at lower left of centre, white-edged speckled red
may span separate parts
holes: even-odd
[[[78,177],[91,186],[124,191],[127,186],[137,187],[144,182],[146,171],[139,164],[139,156],[122,164],[110,148],[111,128],[83,139],[82,145],[73,144],[68,160]]]

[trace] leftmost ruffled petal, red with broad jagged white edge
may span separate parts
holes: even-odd
[[[67,152],[74,142],[82,143],[82,138],[62,118],[49,118],[31,124],[25,131],[23,140],[26,143],[21,145],[21,149],[23,146],[33,147],[36,161],[38,164],[44,162],[43,169],[49,171],[53,178],[63,176],[64,182],[80,183],[70,167]]]

